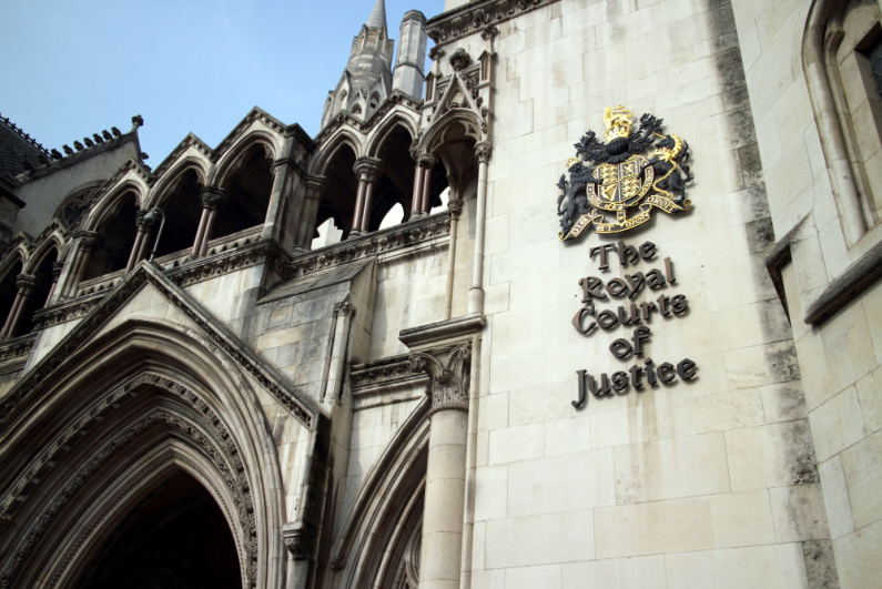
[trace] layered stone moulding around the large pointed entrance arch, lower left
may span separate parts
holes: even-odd
[[[130,321],[49,373],[33,367],[24,396],[0,412],[9,456],[0,465],[0,587],[82,575],[125,507],[156,483],[150,469],[162,456],[224,511],[243,587],[282,586],[275,445],[255,390],[221,356],[176,327]],[[81,519],[90,521],[84,537]]]

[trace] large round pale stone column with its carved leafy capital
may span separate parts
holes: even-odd
[[[420,589],[459,587],[470,364],[470,343],[410,354],[410,370],[429,375],[432,396]]]

